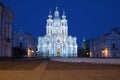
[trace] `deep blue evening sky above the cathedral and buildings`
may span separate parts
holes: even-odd
[[[13,31],[23,30],[38,36],[46,33],[49,10],[56,5],[62,14],[65,10],[69,34],[77,37],[81,47],[82,38],[96,38],[113,27],[120,27],[120,0],[0,0],[14,13]]]

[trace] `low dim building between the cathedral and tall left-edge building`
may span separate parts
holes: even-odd
[[[16,49],[22,49],[22,52],[18,52]],[[21,57],[36,56],[36,41],[30,33],[23,31],[13,32],[13,55],[20,54]]]

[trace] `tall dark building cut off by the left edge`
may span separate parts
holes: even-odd
[[[12,55],[13,18],[11,9],[0,2],[0,57],[11,57]]]

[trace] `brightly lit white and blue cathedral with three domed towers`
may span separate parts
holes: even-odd
[[[68,24],[65,12],[62,18],[58,8],[52,16],[49,12],[46,35],[38,37],[38,55],[43,57],[77,57],[77,38],[68,35]]]

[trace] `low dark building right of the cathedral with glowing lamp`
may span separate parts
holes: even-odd
[[[120,29],[90,41],[90,57],[120,57]]]

